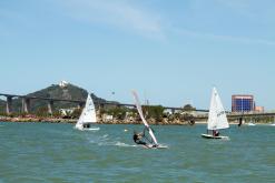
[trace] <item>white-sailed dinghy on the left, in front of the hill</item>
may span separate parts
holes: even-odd
[[[90,94],[88,94],[85,108],[81,112],[80,118],[76,124],[76,129],[78,130],[99,130],[97,126],[91,126],[97,122],[96,108],[92,102]]]

